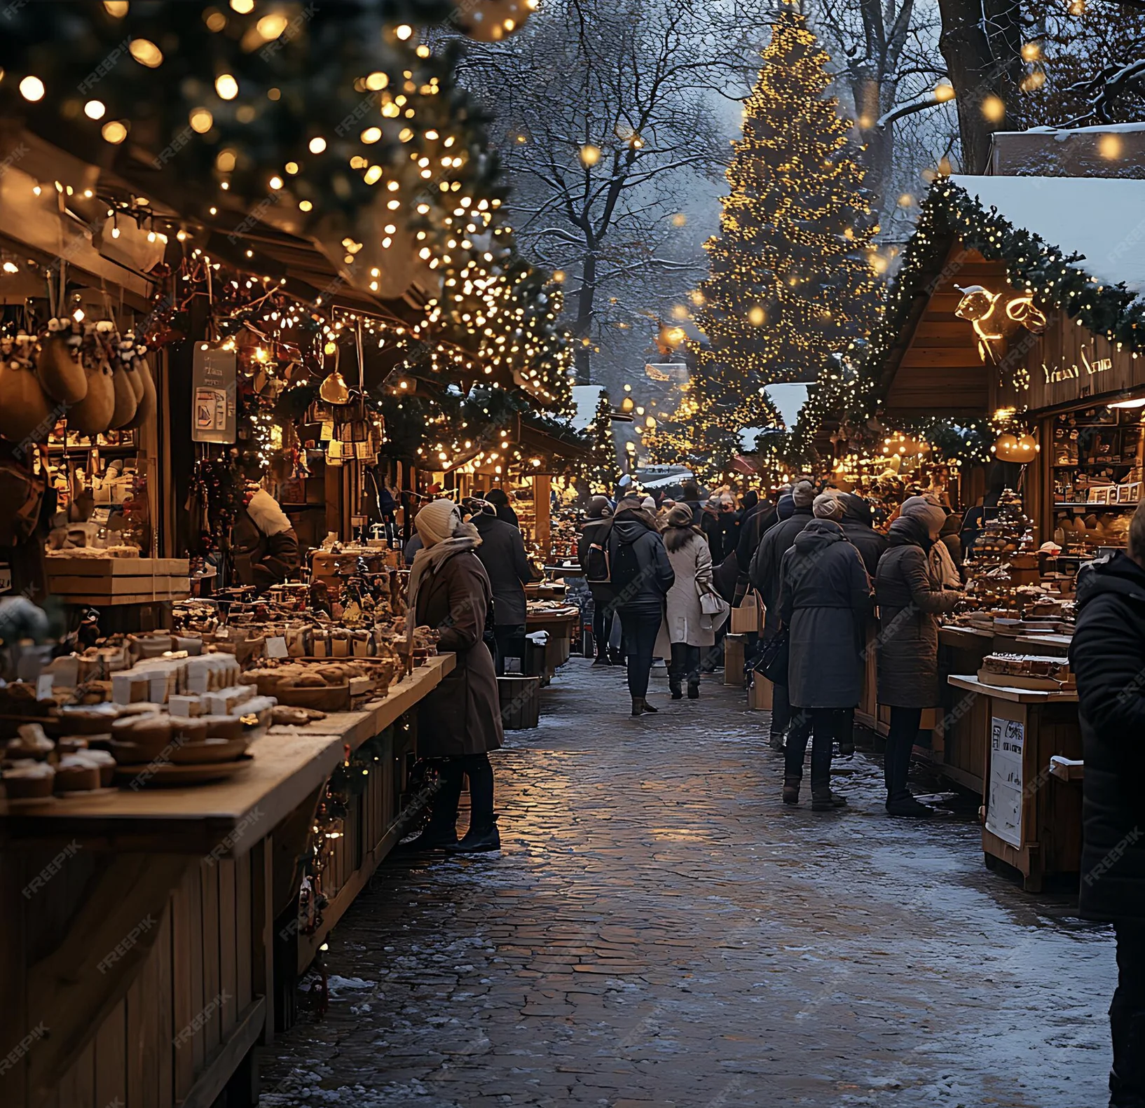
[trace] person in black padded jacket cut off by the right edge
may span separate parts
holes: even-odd
[[[1111,921],[1112,1108],[1145,1105],[1145,504],[1129,553],[1081,572],[1069,664],[1077,679],[1083,845],[1080,912]]]

